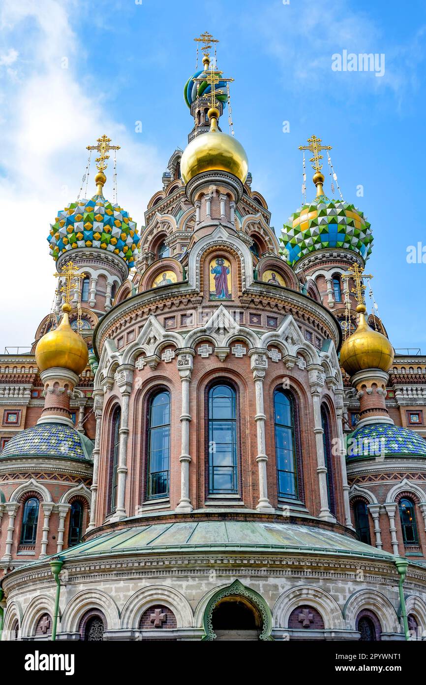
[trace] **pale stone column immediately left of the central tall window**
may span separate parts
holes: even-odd
[[[179,417],[181,421],[181,499],[179,500],[176,511],[191,512],[193,506],[189,497],[189,421],[191,412],[189,409],[189,386],[191,384],[192,369],[194,368],[194,350],[185,349],[178,354],[178,372],[182,383],[182,413]]]

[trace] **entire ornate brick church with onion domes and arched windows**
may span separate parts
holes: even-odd
[[[367,315],[315,136],[276,236],[210,66],[139,230],[98,139],[53,312],[0,356],[2,639],[424,639],[426,358]]]

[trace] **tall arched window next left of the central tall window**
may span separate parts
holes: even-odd
[[[168,497],[170,480],[170,393],[160,390],[149,402],[147,497]]]

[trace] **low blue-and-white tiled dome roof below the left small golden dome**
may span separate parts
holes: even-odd
[[[75,428],[59,423],[39,423],[16,434],[0,453],[9,457],[92,458],[93,443]]]

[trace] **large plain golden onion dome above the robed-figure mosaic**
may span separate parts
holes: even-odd
[[[242,183],[248,175],[248,158],[245,149],[233,136],[217,129],[219,110],[211,108],[208,112],[211,121],[208,133],[196,136],[183,151],[181,175],[183,182],[205,171],[228,171]]]

